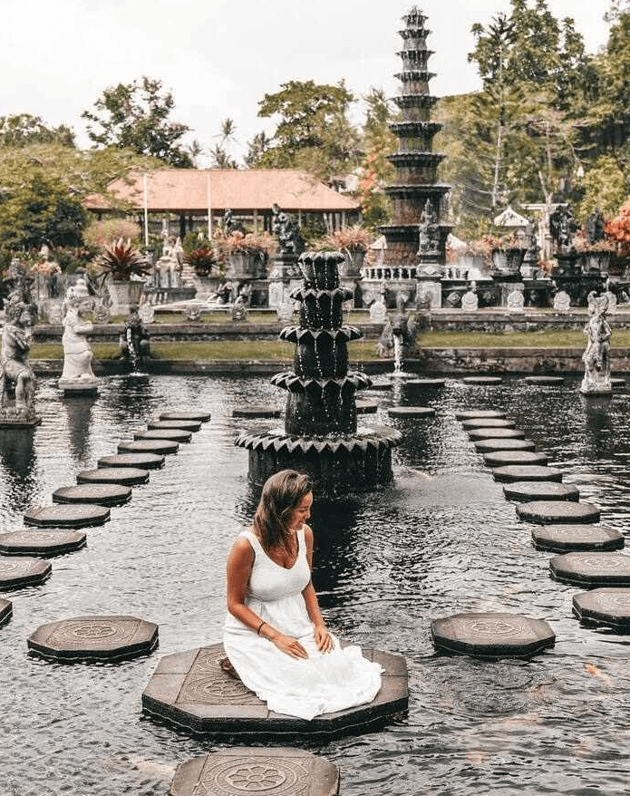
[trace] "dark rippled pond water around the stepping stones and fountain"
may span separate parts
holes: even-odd
[[[403,433],[395,482],[334,504],[315,500],[315,587],[328,623],[364,646],[400,653],[409,666],[404,719],[378,733],[314,747],[341,767],[344,796],[393,794],[613,794],[630,786],[630,636],[580,626],[578,591],[548,576],[527,523],[495,483],[455,420],[483,405],[505,410],[548,451],[602,520],[628,528],[630,396],[586,400],[577,381],[498,387],[447,381],[434,392],[363,393],[379,422]],[[41,587],[5,592],[14,617],[0,628],[2,783],[7,796],[164,794],[174,768],[214,748],[141,716],[141,693],[161,655],[220,640],[224,563],[251,518],[242,428],[273,422],[231,417],[245,403],[281,406],[267,378],[111,378],[96,400],[58,398],[40,385],[43,424],[0,433],[0,525],[50,504],[76,471],[131,439],[166,408],[209,409],[211,422],[166,467],[135,487],[88,546],[53,558]],[[421,397],[422,395],[422,397]],[[389,419],[391,403],[436,407],[429,420]],[[374,416],[363,418],[368,425]],[[530,663],[436,655],[431,618],[458,611],[517,611],[547,619],[553,650]],[[51,665],[26,637],[58,618],[121,613],[160,625],[150,657],[119,665]]]

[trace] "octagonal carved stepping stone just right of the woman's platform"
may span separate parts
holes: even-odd
[[[431,636],[436,649],[481,658],[528,658],[556,643],[542,619],[521,614],[455,614],[434,619]]]

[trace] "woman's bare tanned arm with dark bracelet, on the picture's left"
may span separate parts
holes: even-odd
[[[296,638],[285,636],[260,618],[245,604],[255,553],[243,537],[239,537],[228,556],[228,611],[258,636],[264,636],[282,652],[294,658],[307,658],[305,648]]]

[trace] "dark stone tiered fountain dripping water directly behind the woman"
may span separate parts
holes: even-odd
[[[357,429],[356,392],[364,374],[348,373],[348,341],[363,336],[343,323],[351,291],[339,286],[341,252],[305,252],[298,260],[304,284],[291,294],[301,302],[300,325],[280,338],[296,344],[294,371],[271,383],[288,392],[285,428],[242,433],[249,451],[249,481],[262,485],[274,472],[307,472],[319,494],[365,489],[392,480],[392,448],[400,433],[388,427]]]

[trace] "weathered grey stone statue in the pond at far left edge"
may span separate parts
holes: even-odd
[[[5,307],[0,353],[0,424],[11,424],[12,420],[31,425],[40,422],[34,409],[37,380],[28,361],[32,323],[30,307],[18,294],[11,296]]]

